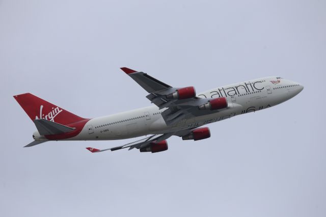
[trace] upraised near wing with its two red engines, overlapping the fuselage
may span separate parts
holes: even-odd
[[[216,110],[227,108],[226,98],[200,98],[196,96],[194,87],[174,88],[144,72],[138,72],[126,67],[121,68],[135,82],[144,88],[149,95],[146,96],[160,109],[167,108],[161,113],[168,125],[173,125],[182,119],[215,113]],[[223,98],[223,99],[222,99]],[[214,109],[211,102],[214,100]],[[219,102],[216,103],[216,100]],[[223,105],[220,106],[221,101]]]

